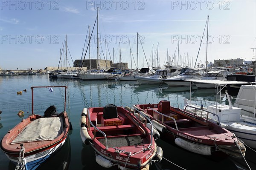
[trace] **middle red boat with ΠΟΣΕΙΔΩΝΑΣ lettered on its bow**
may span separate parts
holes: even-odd
[[[102,167],[146,170],[152,161],[161,161],[163,151],[154,141],[151,121],[144,118],[142,122],[128,109],[113,104],[84,108],[81,139],[93,147]]]

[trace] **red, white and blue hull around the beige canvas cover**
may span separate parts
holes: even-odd
[[[19,153],[24,148],[24,165],[26,170],[34,170],[41,163],[43,163],[52,153],[55,153],[60,149],[66,142],[69,127],[69,119],[67,117],[67,112],[62,112],[59,115],[59,119],[63,121],[61,126],[61,133],[53,140],[34,140],[34,139],[25,139],[20,138],[18,142],[14,142],[14,139],[21,133],[20,130],[23,130],[24,127],[28,127],[33,121],[44,118],[40,115],[30,115],[28,118],[21,121],[17,124],[12,130],[10,130],[1,141],[1,150],[6,154],[7,158],[10,161],[17,164],[19,161]],[[58,118],[58,116],[56,118]],[[52,125],[51,125],[52,126]],[[23,130],[24,131],[24,130]],[[29,137],[28,137],[29,138]]]

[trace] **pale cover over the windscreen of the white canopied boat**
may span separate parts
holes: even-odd
[[[240,107],[249,112],[255,109],[256,85],[242,85],[236,97],[235,107]],[[244,99],[244,100],[241,100]],[[250,101],[249,101],[250,100]]]

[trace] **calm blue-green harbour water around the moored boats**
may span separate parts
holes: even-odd
[[[104,107],[107,104],[131,107],[133,104],[158,103],[160,100],[168,100],[174,107],[183,107],[184,98],[190,97],[189,88],[171,88],[163,85],[139,85],[137,81],[81,81],[71,79],[49,79],[48,75],[26,76],[1,76],[0,77],[0,138],[21,121],[17,113],[23,110],[24,118],[31,113],[31,86],[68,86],[67,88],[67,112],[72,123],[66,144],[44,162],[38,169],[63,169],[69,170],[104,170],[95,161],[95,153],[90,146],[82,143],[80,138],[80,115],[84,107]],[[17,91],[22,91],[17,95]],[[186,90],[186,91],[184,91]],[[192,91],[192,97],[203,100],[215,101],[214,89],[198,89]],[[55,88],[49,93],[46,88],[34,89],[34,113],[43,115],[51,105],[61,112],[63,108],[64,92]],[[182,150],[160,139],[158,146],[163,149],[163,160],[158,164],[152,164],[150,170],[247,170],[242,159],[230,157],[201,156]],[[246,160],[252,170],[256,170],[256,154],[250,150],[246,152]],[[172,163],[171,163],[172,162]],[[180,166],[177,167],[176,165]],[[240,167],[240,168],[239,168]],[[14,170],[5,154],[0,151],[0,169]],[[116,170],[112,167],[110,170]]]

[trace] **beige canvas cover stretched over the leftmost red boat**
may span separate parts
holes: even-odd
[[[39,118],[32,121],[24,130],[17,135],[13,143],[29,141],[53,140],[62,133],[62,123],[59,117]]]

